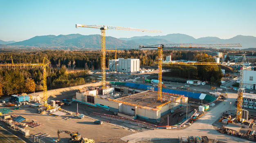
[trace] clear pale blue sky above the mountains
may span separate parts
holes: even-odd
[[[181,33],[229,39],[256,37],[256,0],[0,0],[0,40],[40,35],[100,34],[75,24],[123,26],[162,33],[107,30],[116,38]]]

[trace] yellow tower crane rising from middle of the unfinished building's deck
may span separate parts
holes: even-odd
[[[158,93],[157,100],[162,100],[162,61],[163,61],[163,48],[217,48],[217,47],[242,47],[240,44],[159,44],[159,45],[139,45],[139,48],[158,48]],[[187,64],[187,63],[186,63]],[[219,63],[194,63],[198,65],[218,65]]]

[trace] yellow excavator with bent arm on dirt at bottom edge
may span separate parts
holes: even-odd
[[[70,132],[67,130],[58,130],[58,139],[57,141],[61,140],[61,133],[66,133],[70,135],[69,143],[95,143],[92,139],[81,138],[81,134],[79,132]]]

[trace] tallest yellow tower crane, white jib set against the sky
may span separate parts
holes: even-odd
[[[87,28],[99,28],[101,30],[101,82],[102,89],[106,89],[106,41],[105,41],[105,30],[114,29],[114,30],[128,30],[128,31],[141,31],[141,32],[161,32],[160,30],[146,30],[146,29],[137,29],[129,27],[119,27],[119,26],[106,26],[106,25],[82,25],[76,24],[78,27],[87,27]]]

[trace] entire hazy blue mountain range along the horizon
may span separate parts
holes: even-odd
[[[20,42],[0,40],[0,44],[10,46],[36,46],[36,47],[69,47],[69,48],[86,48],[86,49],[100,49],[101,35],[45,35],[36,36]],[[15,43],[12,43],[15,42]],[[138,45],[157,45],[161,43],[201,43],[201,44],[224,44],[224,43],[240,43],[244,48],[256,48],[256,37],[237,35],[230,39],[220,39],[218,37],[202,37],[195,39],[185,34],[168,34],[164,36],[142,36],[131,38],[115,38],[106,37],[106,48],[129,49],[138,48]],[[3,47],[3,45],[0,45]],[[238,49],[238,48],[236,48]]]

